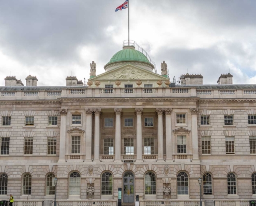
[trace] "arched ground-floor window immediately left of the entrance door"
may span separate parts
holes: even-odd
[[[107,175],[108,175],[108,178],[107,178],[108,181],[106,181]],[[103,181],[103,178],[105,179],[105,181]],[[114,180],[114,177],[113,177],[113,174],[110,171],[104,171],[101,174],[101,176],[100,176],[100,194],[101,195],[111,195],[111,196],[113,195],[113,187],[114,187],[114,184],[113,184],[114,181],[113,180]],[[103,184],[103,182],[104,182],[104,184]],[[105,188],[105,190],[103,190],[103,187]],[[109,188],[109,190],[106,190],[106,188]],[[110,190],[110,188],[111,188],[111,190]],[[106,192],[108,194],[106,194]]]

